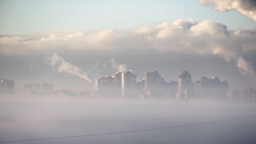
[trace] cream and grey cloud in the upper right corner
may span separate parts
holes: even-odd
[[[220,12],[237,10],[243,15],[256,20],[256,1],[254,0],[198,0],[198,2],[203,6],[210,6]]]

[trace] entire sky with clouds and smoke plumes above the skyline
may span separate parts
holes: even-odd
[[[188,70],[256,87],[256,3],[0,1],[0,77],[85,90],[98,76]],[[90,83],[92,81],[92,83]]]

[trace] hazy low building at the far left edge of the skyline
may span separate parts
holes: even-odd
[[[14,80],[0,78],[0,91],[3,93],[14,93],[15,92]]]

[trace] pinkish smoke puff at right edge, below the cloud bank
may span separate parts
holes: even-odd
[[[250,61],[240,56],[238,57],[237,67],[239,68],[239,71],[242,75],[256,81],[256,73],[254,72]]]

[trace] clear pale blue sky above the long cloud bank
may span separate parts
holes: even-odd
[[[0,1],[0,34],[44,31],[132,29],[178,18],[211,19],[228,29],[252,29],[256,22],[232,10],[218,12],[189,1]]]

